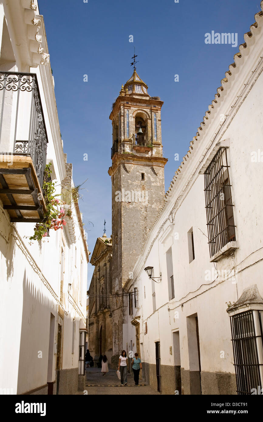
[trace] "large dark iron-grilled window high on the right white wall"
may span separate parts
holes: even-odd
[[[204,173],[210,257],[236,240],[227,148],[220,148]]]

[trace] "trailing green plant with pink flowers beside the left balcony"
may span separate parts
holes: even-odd
[[[66,221],[64,219],[65,210],[63,208],[64,202],[56,199],[55,193],[55,184],[52,182],[51,179],[51,164],[47,164],[45,171],[44,171],[44,181],[43,181],[43,197],[46,204],[46,215],[43,219],[41,224],[37,224],[35,226],[35,233],[33,236],[30,237],[31,240],[41,240],[48,235],[47,230],[59,230],[63,229],[63,226],[66,225]],[[60,210],[57,207],[60,207]]]

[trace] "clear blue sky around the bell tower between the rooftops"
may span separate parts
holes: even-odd
[[[88,179],[79,206],[92,252],[97,237],[103,235],[104,219],[106,234],[111,235],[109,115],[122,83],[133,73],[133,47],[138,75],[149,94],[164,101],[167,190],[233,55],[244,43],[244,33],[254,23],[260,0],[38,0],[38,4],[46,26],[64,151],[73,163],[75,184]],[[206,44],[205,34],[212,31],[237,33],[237,47]],[[83,81],[84,74],[88,82]],[[83,154],[88,154],[88,161]],[[92,273],[89,264],[88,286]]]

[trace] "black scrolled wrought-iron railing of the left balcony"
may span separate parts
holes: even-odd
[[[40,187],[47,134],[35,73],[0,72],[0,151],[30,155]]]

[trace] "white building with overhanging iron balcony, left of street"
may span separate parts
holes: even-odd
[[[63,230],[30,242],[46,163],[57,194],[73,187],[36,0],[0,3],[0,45],[0,389],[72,394],[84,383],[89,252],[76,195]]]

